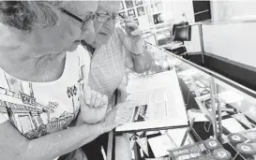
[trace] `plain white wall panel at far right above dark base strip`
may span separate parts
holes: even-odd
[[[256,68],[256,22],[203,25],[204,51]]]

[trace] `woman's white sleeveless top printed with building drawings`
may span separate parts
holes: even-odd
[[[18,80],[0,68],[1,116],[29,139],[67,128],[78,114],[80,90],[88,79],[89,55],[84,57],[68,52],[61,78],[46,83]]]

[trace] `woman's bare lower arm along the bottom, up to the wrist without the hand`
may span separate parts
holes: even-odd
[[[97,138],[103,133],[102,123],[82,124],[63,131],[29,140],[12,124],[0,124],[1,159],[53,160]]]

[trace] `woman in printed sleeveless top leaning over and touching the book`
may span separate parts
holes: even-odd
[[[105,96],[86,89],[90,58],[76,50],[97,6],[0,2],[1,159],[53,160],[127,123],[127,103],[105,115]]]

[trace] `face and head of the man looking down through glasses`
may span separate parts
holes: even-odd
[[[96,35],[94,38],[85,37],[86,43],[98,48],[110,39],[114,32],[119,7],[120,1],[98,1],[98,9],[94,19]],[[105,22],[100,21],[101,19]]]

